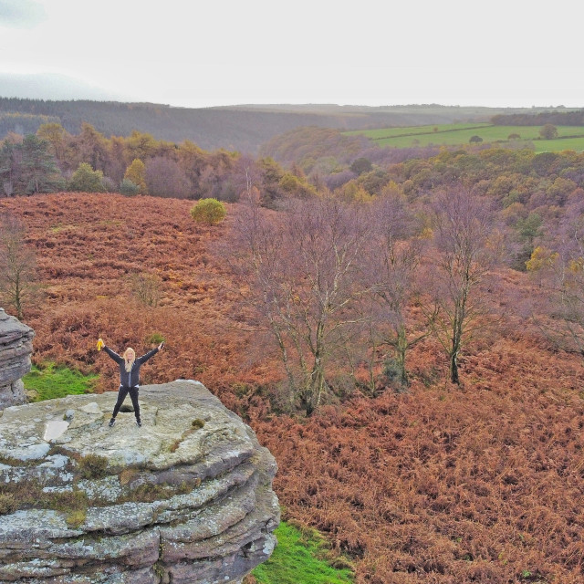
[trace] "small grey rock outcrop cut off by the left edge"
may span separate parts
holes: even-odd
[[[30,371],[35,332],[0,308],[0,410],[26,402],[21,378]]]

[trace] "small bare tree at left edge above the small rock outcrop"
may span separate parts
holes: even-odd
[[[16,217],[0,218],[0,299],[24,317],[24,308],[38,297],[36,258],[26,246],[26,229]]]

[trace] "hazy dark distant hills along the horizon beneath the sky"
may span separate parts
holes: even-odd
[[[0,86],[0,92],[2,87]],[[219,108],[174,108],[151,103],[118,101],[0,98],[0,139],[8,131],[35,131],[41,123],[58,120],[77,134],[86,121],[105,136],[128,136],[132,130],[158,140],[190,140],[205,150],[224,148],[256,154],[274,136],[298,127],[337,130],[487,121],[496,114],[538,113],[550,109],[463,108],[437,104],[367,107],[333,104],[241,105]],[[566,109],[554,109],[565,111]],[[36,120],[31,116],[38,117]]]

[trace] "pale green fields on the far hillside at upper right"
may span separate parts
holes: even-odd
[[[495,143],[502,147],[509,144],[509,135],[519,134],[516,144],[525,142],[526,148],[537,152],[584,150],[584,127],[557,126],[558,138],[542,140],[540,126],[494,126],[489,123],[442,124],[432,126],[411,126],[408,128],[379,128],[344,132],[348,135],[367,136],[380,146],[391,148],[411,148],[412,146],[457,146],[468,144],[472,136],[479,136],[483,143]]]

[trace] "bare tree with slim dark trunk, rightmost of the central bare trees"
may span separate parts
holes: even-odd
[[[500,234],[490,204],[460,185],[436,197],[433,231],[432,326],[448,355],[450,379],[460,384],[461,349],[474,330],[485,324],[485,303],[476,292],[500,255]]]

